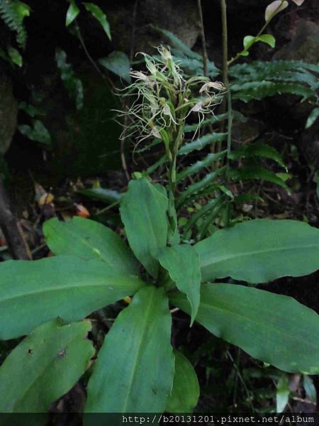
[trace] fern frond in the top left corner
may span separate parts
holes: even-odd
[[[30,13],[27,4],[18,0],[0,0],[0,17],[11,31],[16,33],[16,41],[21,48],[26,47],[27,32],[23,19]]]

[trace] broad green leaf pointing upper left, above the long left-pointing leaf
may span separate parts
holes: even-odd
[[[132,251],[121,238],[99,222],[74,217],[68,222],[50,219],[43,224],[45,241],[55,255],[77,256],[108,263],[114,271],[138,275]]]

